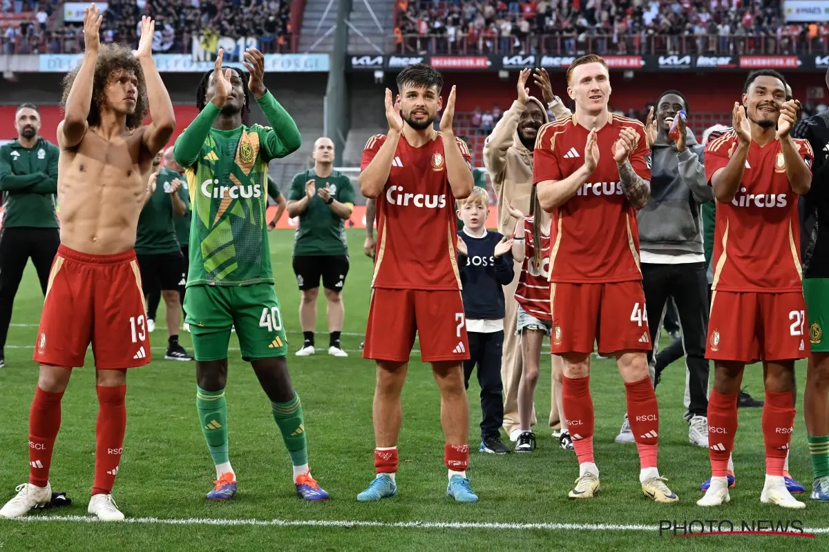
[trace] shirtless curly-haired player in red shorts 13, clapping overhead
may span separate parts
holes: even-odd
[[[34,359],[40,377],[29,415],[29,482],[0,510],[23,516],[51,501],[49,467],[61,426],[61,397],[92,343],[99,411],[89,512],[122,521],[112,487],[123,451],[128,367],[150,362],[138,215],[153,158],[175,127],[172,103],[153,62],[155,22],[143,17],[138,50],[99,44],[100,11],[85,9],[85,55],[64,79],[57,127],[61,247],[52,264]],[[149,105],[148,105],[149,98]],[[143,126],[147,109],[153,122]],[[68,305],[71,305],[70,307]]]

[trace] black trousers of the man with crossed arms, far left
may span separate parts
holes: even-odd
[[[6,345],[8,324],[12,322],[12,305],[23,270],[29,258],[46,295],[49,271],[61,245],[61,231],[57,228],[3,228],[0,230],[0,353]]]

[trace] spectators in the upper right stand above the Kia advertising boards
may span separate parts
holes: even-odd
[[[401,0],[396,46],[429,53],[759,54],[825,51],[829,24],[785,24],[778,0]]]

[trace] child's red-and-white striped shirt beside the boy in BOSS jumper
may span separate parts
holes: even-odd
[[[533,258],[536,247],[532,243],[533,217],[524,218],[523,228],[517,227],[512,237],[524,235],[524,263],[521,265],[521,276],[518,276],[516,286],[516,301],[521,308],[539,320],[553,319],[550,314],[550,233],[541,228],[541,266],[534,266]]]

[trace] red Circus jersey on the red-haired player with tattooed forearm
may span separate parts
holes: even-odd
[[[552,212],[550,281],[580,284],[642,280],[636,210],[624,196],[618,166],[613,161],[624,127],[633,128],[638,137],[629,157],[633,170],[651,180],[644,125],[608,114],[608,123],[596,132],[599,165],[588,182]],[[533,184],[564,180],[584,165],[588,134],[575,115],[541,127],[533,155]]]

